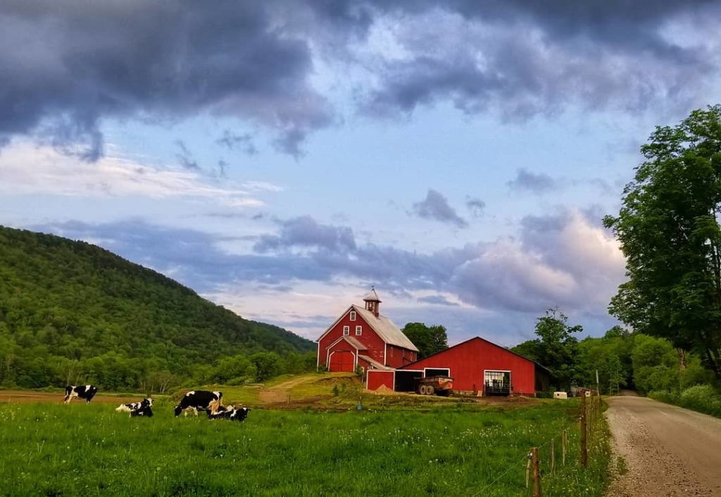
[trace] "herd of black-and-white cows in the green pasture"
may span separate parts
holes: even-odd
[[[90,403],[92,397],[97,394],[97,387],[93,385],[68,385],[65,387],[65,402],[70,403],[74,397],[84,399],[86,403]],[[247,418],[250,409],[239,408],[232,405],[222,405],[223,392],[208,392],[207,390],[192,390],[183,395],[180,403],[175,406],[175,417],[180,413],[193,412],[198,415],[198,411],[202,410],[208,414],[210,419],[228,419],[231,421],[243,421]],[[153,398],[147,397],[140,402],[129,404],[120,404],[116,411],[119,413],[130,413],[131,418],[143,416],[150,418],[153,415]]]

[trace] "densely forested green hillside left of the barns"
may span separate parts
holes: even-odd
[[[0,226],[4,386],[167,386],[226,356],[273,352],[275,361],[291,354],[309,362],[300,354],[314,350],[310,340],[244,320],[97,246]]]

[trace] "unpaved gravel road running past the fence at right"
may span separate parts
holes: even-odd
[[[608,402],[614,451],[627,465],[609,497],[721,497],[721,419],[646,397]]]

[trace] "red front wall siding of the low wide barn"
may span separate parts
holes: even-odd
[[[513,395],[535,395],[536,363],[480,337],[400,369],[450,369],[454,390],[484,392],[484,371],[510,371]]]

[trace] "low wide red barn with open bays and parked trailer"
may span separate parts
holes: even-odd
[[[475,337],[396,371],[369,371],[367,387],[412,391],[418,377],[439,374],[454,378],[454,391],[478,395],[535,395],[548,389],[550,377],[531,359]]]

